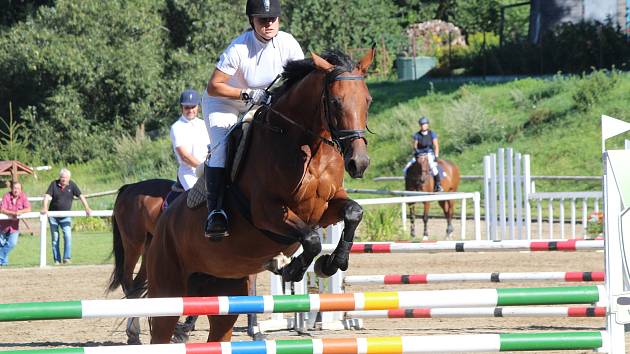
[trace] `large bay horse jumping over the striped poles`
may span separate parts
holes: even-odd
[[[300,281],[321,251],[317,229],[341,220],[342,239],[331,255],[317,259],[315,271],[327,277],[348,268],[363,210],[348,197],[343,175],[345,169],[361,178],[369,164],[371,97],[364,76],[373,57],[374,49],[355,65],[343,53],[328,52],[285,66],[285,82],[254,118],[245,164],[226,191],[229,236],[220,242],[205,238],[206,209],[189,209],[184,198],[177,199],[160,217],[147,250],[149,297],[185,295],[194,273],[234,279],[231,295],[244,295],[245,277],[263,270],[285,282]],[[288,265],[270,263],[300,245],[303,252]],[[209,316],[208,341],[229,341],[237,317]],[[168,343],[176,322],[152,318],[151,343]]]

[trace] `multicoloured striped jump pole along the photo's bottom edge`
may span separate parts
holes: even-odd
[[[372,338],[153,344],[13,350],[4,354],[411,354],[588,350],[604,346],[606,332],[506,333]]]

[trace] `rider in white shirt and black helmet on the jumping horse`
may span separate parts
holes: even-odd
[[[227,132],[251,105],[271,102],[265,88],[287,62],[304,59],[295,38],[279,30],[280,0],[247,0],[245,12],[251,28],[223,51],[202,100],[211,142],[204,164],[208,192],[204,233],[215,241],[228,236],[228,218],[223,211]]]

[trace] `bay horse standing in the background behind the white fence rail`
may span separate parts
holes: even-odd
[[[442,178],[440,180],[440,184],[444,189],[444,192],[457,192],[457,187],[459,186],[459,167],[455,165],[453,162],[449,160],[438,160],[439,165],[439,173],[442,173]],[[433,175],[430,173],[429,168],[429,157],[427,154],[420,154],[416,157],[416,161],[407,169],[407,173],[405,174],[405,190],[408,191],[423,191],[423,192],[433,192],[434,180]],[[454,201],[452,200],[442,200],[438,202],[442,211],[444,212],[444,216],[446,217],[446,239],[450,240],[453,234],[453,212],[454,212]],[[416,237],[416,214],[415,214],[415,204],[416,203],[408,203],[409,205],[409,217],[410,217],[410,233],[411,238]],[[423,240],[427,240],[429,238],[429,209],[431,204],[429,202],[424,202],[424,214],[422,216],[422,220],[424,221],[424,233]]]

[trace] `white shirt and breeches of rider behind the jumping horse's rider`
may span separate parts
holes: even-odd
[[[188,190],[197,182],[195,168],[183,162],[175,149],[181,146],[197,160],[204,161],[208,154],[208,144],[210,144],[205,123],[199,118],[188,120],[180,116],[171,125],[171,144],[179,164],[177,176],[184,189]]]

